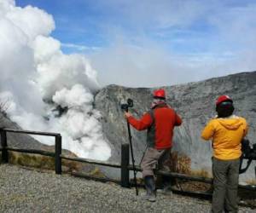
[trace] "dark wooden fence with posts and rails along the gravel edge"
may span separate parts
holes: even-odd
[[[12,133],[20,133],[20,134],[29,134],[29,135],[45,135],[45,136],[53,136],[55,137],[55,153],[35,150],[35,149],[21,149],[8,147],[7,143],[7,132]],[[49,133],[49,132],[38,132],[38,131],[26,131],[26,130],[10,130],[10,129],[0,129],[1,134],[1,145],[0,151],[2,151],[2,162],[9,163],[9,151],[19,152],[19,153],[34,153],[45,155],[49,157],[55,158],[55,174],[61,175],[61,159],[67,159],[76,162],[82,162],[86,164],[97,164],[102,166],[108,166],[112,168],[120,169],[120,185],[122,187],[131,187],[130,182],[130,171],[134,170],[133,166],[130,164],[130,147],[129,144],[122,144],[121,146],[121,162],[120,164],[111,164],[103,161],[91,160],[86,158],[75,158],[75,157],[67,157],[61,154],[61,134],[58,133]],[[142,171],[139,166],[135,166],[135,170]],[[175,172],[166,172],[164,170],[155,170],[156,175],[161,176],[171,176],[178,179],[183,179],[187,181],[200,181],[205,183],[212,184],[212,178],[201,177],[201,176],[189,176],[186,174],[180,174]],[[256,186],[241,186],[240,188],[256,191]]]

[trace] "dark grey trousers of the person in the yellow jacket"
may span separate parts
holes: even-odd
[[[238,212],[237,187],[240,159],[212,158],[213,194],[212,212]]]

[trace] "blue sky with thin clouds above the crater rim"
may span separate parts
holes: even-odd
[[[102,84],[158,86],[256,70],[255,0],[16,0],[26,5],[53,15],[51,36],[64,53],[90,58]]]

